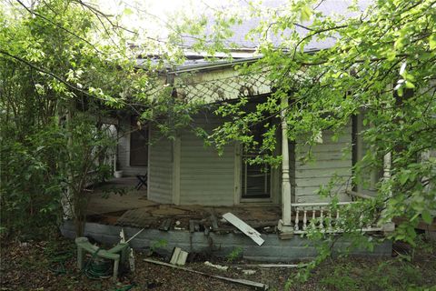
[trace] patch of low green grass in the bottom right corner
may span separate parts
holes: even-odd
[[[325,290],[436,290],[436,243],[421,240],[411,254],[387,259],[339,258],[313,274]]]

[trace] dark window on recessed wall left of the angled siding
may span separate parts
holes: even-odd
[[[148,125],[138,123],[132,117],[130,134],[130,166],[147,166],[148,162]]]

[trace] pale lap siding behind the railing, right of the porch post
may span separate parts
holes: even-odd
[[[304,141],[301,140],[300,144]],[[297,142],[297,144],[299,144]],[[322,144],[312,146],[314,161],[302,164],[301,158],[309,150],[302,146],[295,152],[295,201],[297,203],[328,202],[328,198],[318,196],[320,186],[327,186],[332,178],[335,180],[332,193],[339,192],[341,201],[349,198],[343,192],[347,189],[347,181],[352,176],[352,128],[344,129],[338,141],[332,141],[332,132],[322,132]],[[298,147],[298,146],[297,146]],[[349,186],[350,187],[350,186]]]

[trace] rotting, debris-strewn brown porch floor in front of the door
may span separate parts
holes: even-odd
[[[231,232],[235,228],[222,219],[231,212],[263,233],[275,232],[281,218],[280,206],[174,206],[147,200],[146,188],[136,190],[135,177],[110,180],[94,188],[89,195],[88,222],[113,226],[180,229],[190,231]],[[168,230],[168,229],[166,229]]]

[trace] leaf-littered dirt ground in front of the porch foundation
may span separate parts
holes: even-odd
[[[391,258],[336,258],[318,266],[308,281],[296,282],[291,290],[436,290],[436,247],[423,242],[420,248],[399,246]],[[401,255],[399,255],[401,254]],[[135,253],[136,271],[110,278],[91,279],[76,268],[75,246],[58,237],[49,242],[3,242],[1,248],[1,290],[253,290],[220,279],[188,273],[168,266],[144,262],[150,254]],[[152,255],[154,260],[168,258]],[[186,266],[208,274],[247,279],[284,290],[286,282],[297,273],[290,268],[246,266],[243,259],[229,262],[212,260],[229,266],[227,271],[203,264],[206,257],[196,256]],[[253,270],[244,275],[243,270]],[[419,287],[421,286],[421,287]]]

